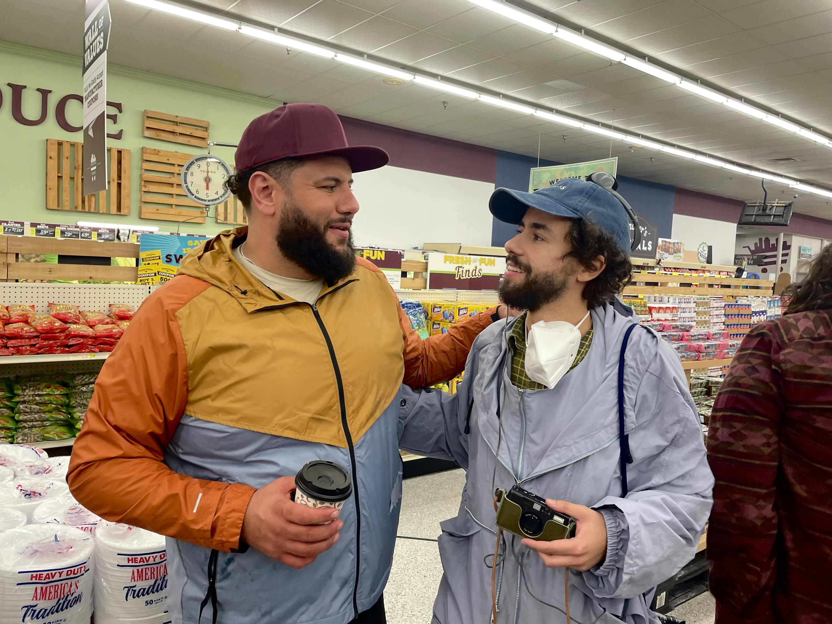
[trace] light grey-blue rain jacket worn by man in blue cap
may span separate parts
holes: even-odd
[[[401,448],[451,458],[468,473],[457,517],[441,523],[444,574],[433,624],[491,620],[486,562],[497,543],[494,487],[515,483],[543,498],[597,509],[607,523],[606,560],[587,572],[570,572],[572,622],[658,622],[649,608],[656,585],[694,557],[714,479],[678,356],[650,329],[636,327],[624,372],[633,462],[627,466],[629,493],[621,498],[617,369],[632,322],[611,305],[592,310],[592,346],[554,389],[513,386],[505,338],[510,324],[504,323],[479,335],[457,394],[404,389]],[[544,566],[512,533],[503,536],[498,624],[566,622],[562,612],[542,603],[563,609],[564,569]]]

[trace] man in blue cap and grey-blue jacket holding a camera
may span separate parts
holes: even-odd
[[[612,305],[632,270],[626,211],[576,179],[489,207],[518,225],[500,295],[526,311],[479,335],[456,394],[408,391],[399,415],[401,448],[467,471],[433,622],[658,622],[656,586],[694,557],[713,477],[676,352]],[[537,503],[498,524],[516,486]],[[574,537],[542,532],[552,510]]]

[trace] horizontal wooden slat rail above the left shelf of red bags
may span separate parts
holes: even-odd
[[[0,235],[0,281],[112,281],[135,282],[135,266],[51,265],[21,261],[21,255],[87,255],[102,258],[138,258],[139,245],[97,240],[67,240],[34,236]]]

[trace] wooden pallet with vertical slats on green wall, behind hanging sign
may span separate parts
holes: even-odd
[[[47,208],[129,215],[130,150],[107,147],[106,151],[110,158],[107,190],[84,196],[84,144],[47,139]]]

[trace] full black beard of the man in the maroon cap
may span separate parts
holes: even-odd
[[[307,217],[294,202],[287,202],[280,218],[280,230],[275,241],[287,260],[307,270],[328,284],[352,274],[355,269],[353,233],[344,245],[337,247],[326,239],[329,227],[336,223],[349,223],[349,219],[329,221],[321,227]]]

